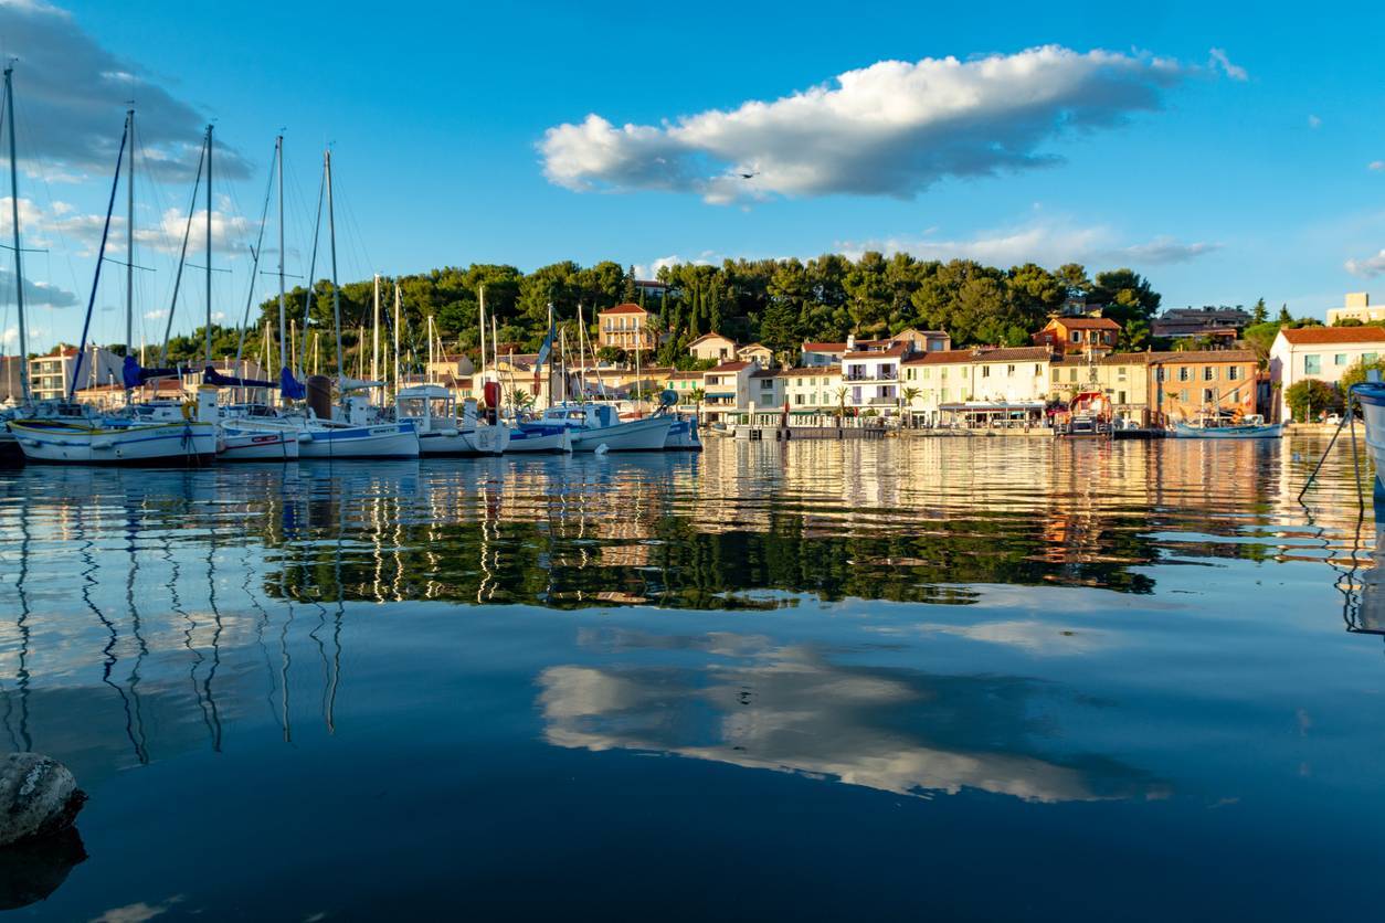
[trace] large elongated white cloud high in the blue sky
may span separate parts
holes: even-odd
[[[616,126],[591,113],[539,144],[551,183],[665,190],[709,202],[780,195],[910,198],[943,177],[1048,166],[1046,141],[1161,105],[1194,68],[1058,46],[970,61],[881,61],[731,111]],[[747,174],[748,179],[747,179]]]

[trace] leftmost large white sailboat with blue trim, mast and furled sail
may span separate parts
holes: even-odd
[[[12,104],[12,95],[10,97],[10,102]],[[107,259],[105,244],[111,234],[111,214],[115,210],[115,194],[120,183],[120,166],[125,163],[126,144],[130,145],[130,162],[126,179],[129,223],[126,226],[125,339],[126,345],[133,340],[134,296],[133,280],[129,277],[134,266],[133,134],[134,109],[129,109],[125,113],[125,130],[120,134],[120,147],[115,158],[111,199],[105,209],[101,246],[97,250],[96,274],[91,280],[91,296],[87,300],[86,317],[82,322],[82,338],[78,342],[72,364],[72,378],[68,382],[66,401],[64,405],[53,408],[51,412],[35,412],[24,419],[10,422],[10,432],[18,440],[19,448],[28,461],[83,465],[184,465],[209,461],[216,455],[215,393],[211,396],[199,393],[197,403],[184,404],[180,411],[181,419],[175,421],[143,421],[133,415],[105,417],[76,405],[73,400],[78,382],[82,381],[82,364],[87,353],[87,333],[91,328],[91,311],[96,307],[96,293],[101,282],[101,266]],[[133,356],[126,357],[126,369],[129,369],[133,361]]]

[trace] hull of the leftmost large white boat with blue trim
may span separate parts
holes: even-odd
[[[216,425],[201,421],[107,428],[66,421],[10,423],[25,461],[58,465],[197,465],[216,457]]]

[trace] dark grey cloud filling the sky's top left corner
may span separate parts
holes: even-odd
[[[14,80],[19,140],[28,149],[19,155],[39,158],[44,177],[109,176],[130,100],[144,166],[165,179],[191,176],[205,115],[140,65],[102,48],[72,14],[40,0],[0,0],[0,35],[8,48],[21,50]],[[249,173],[229,147],[217,147],[217,170]]]

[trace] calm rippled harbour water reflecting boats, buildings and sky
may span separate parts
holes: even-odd
[[[1324,444],[0,472],[0,742],[91,794],[0,901],[1377,919],[1385,594],[1350,454],[1295,501]]]

